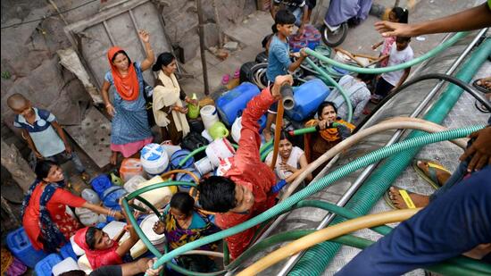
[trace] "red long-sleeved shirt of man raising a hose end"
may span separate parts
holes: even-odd
[[[270,167],[261,162],[259,155],[259,147],[261,146],[260,126],[257,122],[272,103],[274,103],[274,97],[270,94],[270,88],[264,88],[260,95],[254,96],[247,104],[242,114],[242,130],[240,131],[237,154],[233,157],[230,170],[225,176],[237,185],[252,190],[254,205],[249,213],[217,213],[215,222],[221,229],[228,229],[245,222],[268,210],[275,203],[275,195],[270,194],[270,189],[276,184],[276,178]],[[233,259],[242,254],[245,248],[249,246],[256,230],[257,227],[253,227],[225,238]]]

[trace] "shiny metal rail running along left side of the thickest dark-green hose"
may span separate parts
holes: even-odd
[[[467,46],[464,49],[464,51],[462,52],[462,54],[457,58],[457,60],[455,60],[455,62],[452,64],[452,66],[447,71],[445,71],[445,74],[450,75],[450,74],[454,73],[454,71],[457,69],[457,67],[463,62],[463,60],[465,59],[465,57],[467,56],[467,54],[469,54],[470,51],[472,50],[472,48],[479,42],[479,38],[481,38],[484,34],[486,34],[486,32],[487,32],[487,29],[481,29],[479,31],[479,33],[476,36],[476,38],[474,38],[472,40],[472,42],[470,42],[470,45]],[[445,38],[448,38],[448,37],[449,37],[449,35],[447,35]],[[423,67],[422,66],[423,64],[421,64],[420,68]],[[425,106],[429,104],[429,101],[434,96],[436,96],[437,91],[443,86],[444,83],[445,83],[445,81],[440,80],[437,83],[437,85],[429,92],[429,94],[422,100],[422,102],[420,103],[420,105],[418,105],[416,107],[416,109],[411,113],[411,115],[409,117],[415,118],[416,116],[418,116],[421,113],[421,111],[425,108]],[[370,116],[370,119],[365,122],[365,124],[363,125],[362,128],[365,128],[367,125],[370,125],[370,121],[375,120],[373,118],[375,118],[376,117],[375,114],[377,114],[379,112],[380,112],[380,110],[377,111],[376,113],[374,113],[372,116]],[[392,138],[390,138],[390,140],[387,142],[386,146],[390,146],[390,145],[394,144],[399,138],[401,138],[402,135],[403,135],[403,130],[397,130],[395,132],[395,134],[392,136]],[[345,192],[345,194],[343,195],[343,197],[341,197],[337,201],[336,205],[338,205],[338,206],[345,206],[345,204],[348,202],[348,200],[351,197],[353,197],[353,195],[356,192],[356,190],[362,186],[363,181],[366,180],[370,176],[371,171],[373,171],[375,169],[375,167],[377,167],[377,165],[379,165],[379,162],[372,163],[368,167],[366,167],[365,170],[362,171],[362,173],[360,174],[360,176],[350,186],[350,188],[348,188],[348,190]],[[322,175],[322,173],[324,173],[324,172],[325,171],[320,171],[319,174]],[[324,219],[320,222],[320,224],[316,228],[316,230],[320,230],[320,229],[325,228],[330,222],[332,222],[332,220],[334,219],[335,216],[336,216],[336,214],[328,213],[324,217]],[[302,252],[300,252],[300,253],[298,253],[298,254],[290,257],[288,259],[287,263],[283,266],[283,268],[281,269],[281,271],[279,272],[278,275],[282,275],[282,276],[283,275],[287,275],[287,272],[289,272],[293,268],[293,266],[295,265],[295,263],[298,262],[298,260],[300,259],[300,257],[302,257],[302,255],[304,255],[304,251],[302,251]]]

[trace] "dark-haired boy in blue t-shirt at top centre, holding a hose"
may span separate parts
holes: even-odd
[[[277,76],[287,75],[288,71],[295,71],[307,57],[304,49],[302,49],[299,53],[294,54],[297,57],[295,63],[290,60],[290,47],[287,38],[293,32],[294,23],[295,15],[288,10],[279,10],[275,15],[274,25],[271,27],[275,35],[270,41],[268,69],[266,71],[268,83],[273,83]],[[266,128],[262,130],[262,135],[266,141],[271,139],[271,124],[276,119],[277,109],[278,105],[275,103],[268,110]]]

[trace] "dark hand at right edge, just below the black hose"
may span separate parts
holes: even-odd
[[[469,138],[476,138],[474,143],[469,146],[459,158],[461,161],[470,156],[467,171],[479,171],[487,164],[491,165],[491,127],[470,133]]]

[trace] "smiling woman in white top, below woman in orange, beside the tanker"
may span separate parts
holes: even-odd
[[[280,180],[286,180],[288,183],[295,180],[296,176],[309,164],[305,157],[304,150],[298,146],[293,146],[288,139],[285,130],[279,135],[279,158],[276,160],[275,173]],[[273,152],[266,156],[265,163],[271,165]],[[312,180],[312,175],[306,177],[306,180]]]

